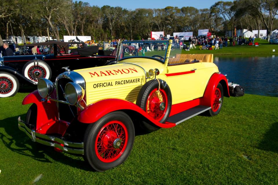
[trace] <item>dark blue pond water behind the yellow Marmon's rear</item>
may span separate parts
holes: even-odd
[[[214,56],[229,82],[244,87],[248,94],[278,97],[278,56]]]

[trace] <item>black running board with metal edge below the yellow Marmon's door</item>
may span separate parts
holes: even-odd
[[[198,114],[200,114],[204,111],[207,111],[209,109],[211,109],[211,107],[198,105],[198,106],[188,109],[186,111],[183,111],[183,112],[180,112],[173,116],[170,116],[168,118],[167,122],[175,123],[177,125],[177,124],[180,124],[181,122],[184,122],[185,120],[188,120],[194,116],[197,116]]]

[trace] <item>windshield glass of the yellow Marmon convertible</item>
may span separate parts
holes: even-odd
[[[118,51],[118,60],[134,57],[151,57],[165,61],[169,40],[162,41],[124,41]]]

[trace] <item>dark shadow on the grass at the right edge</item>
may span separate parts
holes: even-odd
[[[258,149],[278,153],[278,122],[274,122],[271,128],[264,134]]]

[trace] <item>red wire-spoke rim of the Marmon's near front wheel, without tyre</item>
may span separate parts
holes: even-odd
[[[113,162],[125,151],[128,133],[125,124],[118,120],[105,124],[96,138],[96,155],[102,162]]]

